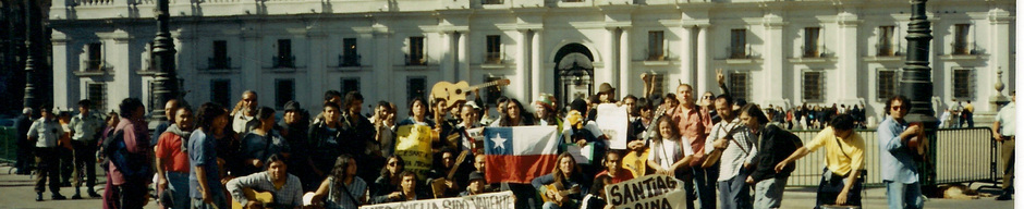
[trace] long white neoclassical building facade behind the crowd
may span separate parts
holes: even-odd
[[[148,100],[155,0],[54,0],[57,107]],[[931,0],[934,101],[990,112],[997,82],[1015,87],[1013,0]],[[405,107],[440,81],[560,102],[601,83],[619,96],[679,83],[758,103],[867,106],[898,93],[906,0],[171,0],[185,98],[234,104],[241,93],[319,109],[326,90]],[[999,77],[997,72],[1001,71]],[[1001,94],[1007,95],[1009,90]],[[400,108],[405,114],[406,108]],[[368,112],[364,109],[364,112]],[[941,110],[939,110],[941,111]]]

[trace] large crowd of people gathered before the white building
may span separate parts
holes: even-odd
[[[497,116],[477,104],[483,103],[478,96],[454,106],[415,98],[407,104],[410,115],[401,121],[398,107],[388,101],[377,102],[370,116],[362,115],[358,91],[325,93],[316,115],[289,101],[282,119],[275,109],[258,104],[257,93],[245,91],[233,107],[168,101],[163,110],[169,120],[153,133],[138,99],[124,99],[119,113],[106,119],[90,113],[90,102],[82,100],[75,116],[54,119],[50,107],[41,107],[41,118],[22,135],[35,145],[36,200],[44,200],[47,177],[51,198],[64,199],[59,193],[63,172],[57,164],[68,156],[75,173],[72,198],[82,198],[77,188],[84,180],[90,197],[102,196],[105,209],[142,208],[150,199],[150,185],[163,208],[222,209],[232,201],[270,208],[357,208],[512,190],[517,208],[596,209],[613,207],[605,186],[651,174],[684,182],[688,208],[779,208],[793,162],[819,149],[826,151],[826,167],[816,208],[860,206],[865,142],[853,130],[862,124],[863,108],[802,106],[782,113],[733,99],[720,73],[718,83],[723,94],[708,91],[699,99],[690,85],[680,84],[674,94],[626,95],[621,100],[606,83],[596,95],[566,103],[568,111],[559,111],[551,96],[532,103],[502,97],[495,107]],[[608,136],[595,123],[601,116],[596,107],[602,103],[626,107],[626,149],[604,144]],[[536,111],[528,112],[527,106]],[[909,109],[905,97],[889,99],[889,116],[878,131],[879,146],[888,150],[879,155],[891,208],[923,205],[915,159],[907,148],[922,128],[903,120]],[[25,111],[31,115],[31,109]],[[792,123],[779,119],[822,130],[803,142],[788,131]],[[395,155],[395,128],[409,124],[437,134],[431,142],[436,160],[426,176],[405,170],[410,164]],[[577,163],[560,150],[554,169],[531,184],[487,182],[485,153],[474,143],[481,138],[466,130],[531,125],[557,126],[560,140],[596,146],[598,158],[593,164]],[[1012,142],[1012,128],[1002,131]],[[463,150],[467,160],[456,160]],[[623,161],[644,153],[644,163]],[[93,189],[95,171],[82,169],[93,168],[97,158],[108,173],[102,195]],[[272,202],[258,200],[254,193],[259,192],[271,193]],[[304,202],[303,196],[312,196],[312,201]]]

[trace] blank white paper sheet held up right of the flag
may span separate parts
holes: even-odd
[[[597,126],[608,136],[606,142],[610,149],[625,149],[626,131],[630,118],[625,106],[601,103],[597,106]]]

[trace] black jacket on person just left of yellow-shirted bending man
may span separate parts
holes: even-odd
[[[790,155],[793,155],[796,149],[803,146],[800,137],[776,125],[765,125],[757,137],[759,138],[757,149],[760,151],[757,152],[757,156],[754,156],[756,168],[754,173],[751,174],[754,182],[772,179],[778,174],[789,176],[796,169],[795,164],[790,163],[778,174],[775,168],[776,164],[789,158]]]

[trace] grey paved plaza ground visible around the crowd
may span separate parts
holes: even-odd
[[[82,200],[51,200],[50,193],[44,194],[45,201],[35,201],[33,192],[34,182],[29,175],[8,174],[10,167],[0,167],[0,209],[7,208],[54,208],[54,209],[96,209],[101,208],[99,199]],[[101,173],[101,172],[100,172]],[[102,185],[102,184],[100,184]],[[990,184],[988,184],[990,185]],[[972,187],[978,188],[986,184],[974,184]],[[983,193],[995,193],[995,190],[985,188]],[[83,195],[85,189],[82,190]],[[101,190],[99,193],[102,193]],[[73,188],[63,187],[61,194],[71,197],[74,194]],[[812,208],[815,204],[814,188],[793,187],[785,190],[782,208]],[[869,188],[864,198],[865,209],[887,208],[885,188]],[[996,201],[993,197],[987,197],[974,200],[954,200],[954,199],[929,199],[925,202],[926,208],[936,209],[999,209],[1013,208],[1013,201]],[[156,209],[155,204],[150,202],[146,209]]]

